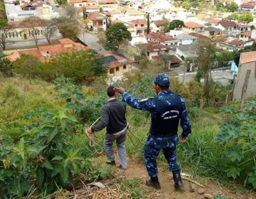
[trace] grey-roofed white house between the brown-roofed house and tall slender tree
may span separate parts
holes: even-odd
[[[181,58],[196,58],[198,56],[196,53],[196,45],[194,43],[191,45],[176,46],[176,54]]]

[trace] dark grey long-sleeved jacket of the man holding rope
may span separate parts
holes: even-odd
[[[100,112],[100,124],[92,127],[92,131],[100,131],[107,127],[108,134],[114,134],[127,127],[127,119],[125,118],[126,107],[124,102],[114,98],[108,100]]]

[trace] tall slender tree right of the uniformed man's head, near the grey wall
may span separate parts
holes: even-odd
[[[206,105],[210,103],[210,97],[213,90],[213,80],[211,78],[210,69],[213,66],[215,60],[216,48],[213,44],[207,41],[198,42],[198,68],[202,73],[204,85],[203,85],[203,97],[206,99]]]

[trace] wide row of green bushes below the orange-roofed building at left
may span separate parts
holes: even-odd
[[[99,58],[100,55],[94,50],[62,53],[46,63],[41,63],[32,55],[21,55],[21,58],[12,63],[13,70],[10,69],[10,72],[16,72],[30,80],[41,78],[51,81],[56,77],[72,77],[77,83],[89,83],[96,76],[105,76],[105,66]]]

